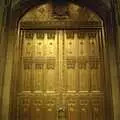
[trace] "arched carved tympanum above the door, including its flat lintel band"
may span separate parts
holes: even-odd
[[[68,2],[66,5],[52,3],[34,7],[19,21],[21,28],[79,28],[101,27],[102,20],[86,7]]]

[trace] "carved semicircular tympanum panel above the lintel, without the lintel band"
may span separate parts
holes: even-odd
[[[79,5],[68,3],[65,6],[66,11],[61,13],[62,15],[58,15],[63,8],[56,9],[51,4],[43,4],[38,7],[31,9],[27,12],[22,19],[21,22],[27,21],[79,21],[79,22],[101,22],[101,19],[92,11],[87,9],[86,7],[80,7]],[[59,16],[59,17],[57,17]],[[63,17],[63,18],[61,18]],[[60,19],[59,19],[60,18]]]

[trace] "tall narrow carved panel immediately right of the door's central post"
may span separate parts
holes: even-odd
[[[64,59],[64,77],[66,80],[67,91],[76,91],[77,87],[77,71],[76,71],[76,56],[77,56],[77,41],[74,31],[64,32],[63,41],[63,59]]]

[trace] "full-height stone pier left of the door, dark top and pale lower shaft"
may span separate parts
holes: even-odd
[[[3,0],[4,1],[4,0]],[[10,1],[9,1],[10,2]],[[9,120],[10,88],[12,80],[12,67],[14,58],[14,40],[16,29],[11,25],[11,3],[4,8],[3,31],[2,31],[2,77],[1,77],[1,120]]]

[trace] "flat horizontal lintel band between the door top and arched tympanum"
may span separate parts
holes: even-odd
[[[102,24],[96,21],[80,22],[80,21],[25,21],[20,23],[21,29],[79,29],[79,28],[102,28]]]

